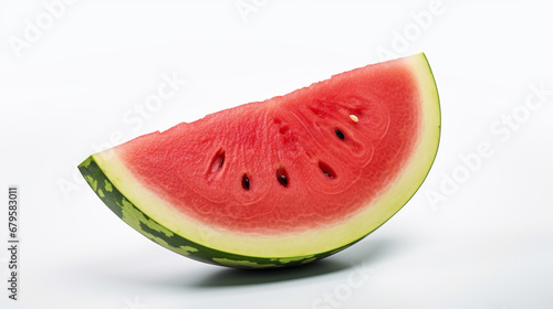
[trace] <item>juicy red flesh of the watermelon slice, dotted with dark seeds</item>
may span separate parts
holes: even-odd
[[[417,142],[415,76],[374,71],[180,124],[119,156],[148,190],[204,224],[279,234],[341,222],[394,181]]]

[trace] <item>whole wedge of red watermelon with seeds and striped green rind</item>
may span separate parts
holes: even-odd
[[[409,199],[438,149],[424,54],[138,137],[79,166],[146,237],[222,266],[306,264],[359,241]]]

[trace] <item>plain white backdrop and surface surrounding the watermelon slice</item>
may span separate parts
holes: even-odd
[[[20,300],[2,288],[1,308],[553,308],[551,2],[0,3],[6,247],[10,184],[21,199]],[[441,99],[435,166],[395,217],[321,263],[187,259],[76,172],[107,146],[418,52]],[[175,92],[153,105],[167,76]]]

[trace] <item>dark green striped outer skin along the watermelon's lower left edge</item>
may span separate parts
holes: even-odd
[[[343,247],[321,254],[286,258],[244,256],[217,251],[173,233],[137,209],[117,190],[112,181],[109,181],[94,160],[94,154],[79,164],[79,170],[102,202],[104,202],[104,204],[126,224],[154,243],[199,262],[246,269],[290,267],[321,259],[352,245],[347,244]]]

